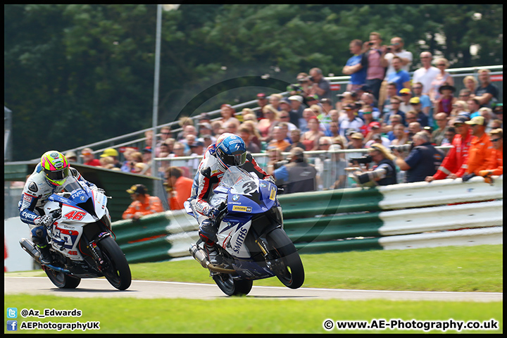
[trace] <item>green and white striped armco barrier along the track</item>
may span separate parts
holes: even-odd
[[[301,253],[503,242],[503,176],[494,177],[494,184],[474,177],[280,195],[279,200],[284,229]],[[189,256],[197,230],[184,211],[113,223],[130,263]],[[139,239],[146,240],[135,242]]]

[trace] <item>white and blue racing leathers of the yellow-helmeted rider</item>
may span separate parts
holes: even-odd
[[[84,180],[75,168],[69,169],[69,175],[73,175],[76,180],[84,182],[92,189],[98,189],[95,184]],[[30,227],[32,241],[41,251],[42,263],[46,264],[49,263],[48,258],[51,258],[47,247],[46,227],[53,223],[53,218],[50,215],[44,215],[44,205],[51,194],[58,192],[63,192],[63,187],[49,183],[39,163],[32,175],[28,177],[18,203],[20,219]]]

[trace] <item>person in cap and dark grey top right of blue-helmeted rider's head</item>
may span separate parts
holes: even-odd
[[[291,150],[289,164],[275,170],[274,176],[277,182],[280,180],[285,184],[285,194],[317,189],[317,170],[308,164],[303,149],[298,147]]]

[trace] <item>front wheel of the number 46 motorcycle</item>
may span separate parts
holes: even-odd
[[[112,237],[101,239],[101,241],[97,243],[97,246],[99,246],[102,251],[104,265],[108,266],[108,268],[103,271],[108,282],[119,290],[125,290],[130,287],[132,275],[127,263],[127,258],[125,258],[125,254],[121,251],[120,246],[118,246]]]

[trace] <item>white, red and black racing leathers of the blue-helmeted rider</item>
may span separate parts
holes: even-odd
[[[197,221],[199,223],[199,236],[203,241],[211,245],[216,240],[217,227],[213,224],[214,218],[218,215],[217,209],[213,208],[208,201],[213,196],[213,189],[218,186],[222,177],[227,170],[221,165],[215,155],[215,144],[211,144],[206,149],[199,168],[194,177],[194,184],[192,184],[192,204],[196,211]],[[246,154],[246,161],[240,168],[250,172],[256,173],[260,179],[270,180],[275,182],[272,176],[265,173],[265,171],[257,164],[255,159],[250,153]]]

